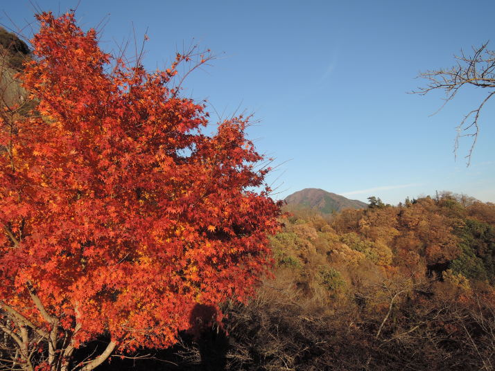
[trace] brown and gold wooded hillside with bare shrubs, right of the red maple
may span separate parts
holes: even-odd
[[[272,248],[275,281],[227,325],[233,370],[493,368],[494,204],[294,213]]]

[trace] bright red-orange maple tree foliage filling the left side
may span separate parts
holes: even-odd
[[[0,316],[51,338],[52,368],[101,334],[168,347],[195,305],[243,300],[269,269],[270,169],[247,118],[202,134],[205,105],[171,87],[191,53],[148,73],[73,14],[37,19],[19,77],[37,105],[0,119]]]

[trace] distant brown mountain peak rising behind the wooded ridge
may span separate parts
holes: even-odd
[[[311,208],[324,214],[340,211],[346,208],[367,208],[367,203],[355,199],[347,199],[339,194],[320,190],[318,188],[306,188],[286,197],[286,203],[296,208]]]

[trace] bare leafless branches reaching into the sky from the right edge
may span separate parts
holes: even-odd
[[[455,136],[454,144],[454,153],[456,156],[460,138],[464,136],[472,138],[469,152],[464,156],[467,159],[468,166],[471,163],[471,154],[473,153],[480,132],[478,118],[481,109],[483,109],[485,103],[495,94],[495,51],[487,49],[487,45],[488,42],[478,48],[472,47],[473,55],[466,55],[461,50],[460,55],[454,55],[455,65],[449,69],[438,69],[419,74],[418,77],[428,80],[428,84],[426,87],[420,87],[418,91],[412,92],[424,96],[426,93],[435,89],[443,90],[445,92],[444,105],[446,105],[464,86],[470,85],[472,87],[488,89],[489,92],[485,99],[480,102],[480,105],[464,116],[458,127],[456,127],[457,136]]]

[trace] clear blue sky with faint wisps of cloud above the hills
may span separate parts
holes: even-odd
[[[58,13],[78,1],[37,4]],[[260,122],[248,134],[279,165],[268,179],[275,197],[322,188],[395,204],[451,190],[495,202],[495,100],[467,168],[470,143],[455,161],[455,127],[487,91],[461,91],[434,116],[440,91],[407,93],[425,84],[419,72],[453,65],[461,48],[492,39],[495,49],[495,2],[466,4],[82,0],[76,16],[85,29],[103,21],[106,51],[147,33],[149,69],[166,68],[183,45],[210,48],[217,59],[189,76],[185,93],[207,98],[212,118],[254,113]],[[27,0],[1,1],[0,10],[10,28],[31,23],[35,11]]]

